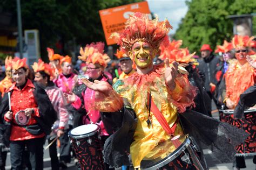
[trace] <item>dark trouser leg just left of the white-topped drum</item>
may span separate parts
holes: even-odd
[[[70,126],[70,129],[72,127]],[[59,138],[60,141],[60,150],[59,150],[59,159],[60,161],[64,161],[66,163],[69,163],[71,161],[71,145],[68,137],[69,130],[65,130],[63,136]]]

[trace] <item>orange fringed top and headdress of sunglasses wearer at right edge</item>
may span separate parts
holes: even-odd
[[[232,44],[234,48],[250,47],[252,39],[253,37],[235,35]],[[254,69],[248,62],[241,66],[238,61],[235,61],[228,67],[225,81],[226,98],[230,98],[231,101],[235,102],[236,106],[239,96],[255,83]]]

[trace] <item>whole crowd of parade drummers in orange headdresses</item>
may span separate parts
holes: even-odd
[[[11,169],[43,169],[46,140],[52,169],[67,168],[71,156],[81,169],[207,169],[203,147],[221,162],[233,161],[234,169],[246,167],[238,153],[251,153],[255,164],[256,111],[249,117],[244,110],[256,104],[246,100],[255,93],[256,40],[235,35],[215,52],[204,44],[198,58],[181,48],[182,40],[169,40],[170,29],[167,20],[134,13],[122,33],[112,34],[120,46],[117,66],[110,64],[103,42],[80,48],[79,70],[70,56],[51,48],[49,63],[39,59],[31,67],[25,58],[8,56],[0,82],[0,169],[5,169],[6,147]],[[212,118],[212,100],[223,112],[240,107],[238,114],[228,121],[223,112],[220,121]],[[103,155],[92,152],[93,146],[70,144],[69,132],[90,124],[100,128]],[[84,143],[91,144],[87,137]],[[181,146],[182,153],[158,165]]]

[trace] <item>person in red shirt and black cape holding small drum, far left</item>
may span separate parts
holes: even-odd
[[[29,159],[32,169],[43,169],[43,144],[45,133],[48,131],[41,128],[42,126],[39,123],[42,124],[41,121],[44,117],[47,117],[49,124],[45,122],[44,125],[47,125],[49,129],[56,114],[45,91],[40,90],[31,80],[26,79],[27,75],[26,59],[13,59],[12,79],[14,84],[7,91],[11,94],[10,109],[8,95],[5,94],[2,103],[4,107],[0,110],[4,122],[10,124],[11,128],[9,136],[11,169],[22,169],[25,146],[30,154]],[[39,110],[39,108],[43,109]],[[40,122],[38,122],[39,120]]]

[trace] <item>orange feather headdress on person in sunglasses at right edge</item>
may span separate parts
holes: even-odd
[[[253,38],[254,37],[235,35],[232,39],[233,47],[251,47],[253,45]]]

